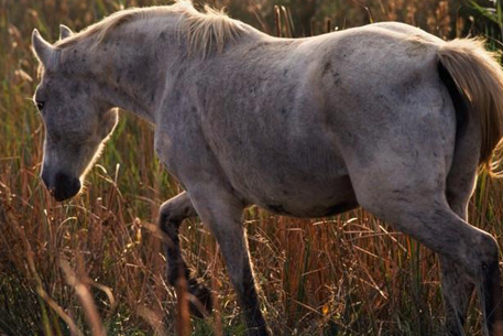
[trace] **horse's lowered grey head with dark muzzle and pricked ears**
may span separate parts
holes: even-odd
[[[62,37],[68,36],[63,31]],[[41,82],[33,97],[45,126],[42,180],[56,200],[75,196],[102,143],[118,121],[118,111],[99,99],[98,84],[78,76],[62,51],[39,31],[32,47],[41,63]]]

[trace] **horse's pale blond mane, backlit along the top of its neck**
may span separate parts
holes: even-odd
[[[56,42],[55,46],[73,45],[89,36],[97,36],[96,44],[98,45],[109,32],[123,23],[175,13],[179,14],[177,33],[181,37],[187,39],[189,53],[206,56],[215,51],[221,52],[227,43],[234,42],[241,35],[243,29],[223,11],[209,6],[205,6],[204,9],[204,12],[197,11],[190,0],[177,0],[172,6],[125,9],[89,25],[70,37]]]

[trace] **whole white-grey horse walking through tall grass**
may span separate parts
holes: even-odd
[[[497,243],[467,223],[478,167],[503,134],[503,73],[482,42],[392,22],[277,39],[187,1],[63,35],[50,44],[33,32],[44,183],[57,200],[80,191],[116,107],[154,124],[185,188],[161,207],[168,280],[185,278],[207,308],[181,257],[185,218],[198,215],[220,245],[248,335],[271,335],[243,208],[319,217],[362,206],[439,253],[451,335],[464,335],[474,286],[485,335],[503,335]]]

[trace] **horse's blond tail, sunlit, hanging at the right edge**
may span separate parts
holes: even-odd
[[[481,39],[453,40],[438,51],[440,72],[441,67],[447,69],[468,102],[470,117],[479,118],[482,136],[479,166],[490,173],[494,151],[503,148],[503,71],[496,56],[484,48]]]

